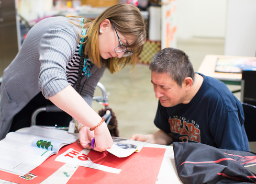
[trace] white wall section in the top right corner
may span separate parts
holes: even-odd
[[[229,0],[225,55],[256,54],[256,0]]]

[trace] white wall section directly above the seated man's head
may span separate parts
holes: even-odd
[[[225,38],[227,0],[177,0],[177,38]]]

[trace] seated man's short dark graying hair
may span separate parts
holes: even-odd
[[[193,82],[195,79],[193,65],[187,54],[174,48],[165,48],[157,53],[150,63],[149,70],[169,74],[179,86],[182,86],[186,77],[191,77]]]

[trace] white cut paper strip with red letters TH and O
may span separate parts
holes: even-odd
[[[112,172],[115,174],[119,174],[119,172],[121,171],[120,169],[116,169],[113,167],[107,167],[104,165],[95,164],[86,155],[86,152],[84,150],[76,151],[73,148],[69,148],[66,152],[59,155],[57,158],[55,158],[55,161],[74,164],[74,165],[83,166],[83,167],[89,167],[97,170],[103,170],[103,171]]]

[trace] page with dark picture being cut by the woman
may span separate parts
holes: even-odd
[[[107,149],[107,151],[119,158],[130,156],[135,152],[138,153],[141,151],[143,146],[147,144],[146,142],[133,141],[121,137],[112,137],[112,139],[114,144],[110,149]]]

